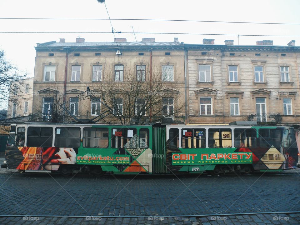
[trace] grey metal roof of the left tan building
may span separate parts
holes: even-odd
[[[117,45],[118,43],[118,45]],[[37,43],[47,47],[78,47],[78,46],[178,46],[179,42],[46,42]]]

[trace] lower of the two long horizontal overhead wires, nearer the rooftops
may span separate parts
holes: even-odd
[[[74,34],[109,34],[112,32],[27,32],[27,31],[0,31],[0,33],[74,33]],[[219,36],[260,36],[260,37],[300,37],[300,35],[260,35],[260,34],[209,34],[209,33],[173,33],[173,32],[118,32],[123,34],[188,34],[188,35],[219,35]]]

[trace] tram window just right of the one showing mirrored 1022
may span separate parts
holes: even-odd
[[[234,129],[234,147],[251,148],[256,147],[255,129]]]

